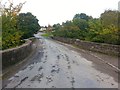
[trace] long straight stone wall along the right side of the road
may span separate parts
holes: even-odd
[[[96,42],[89,42],[89,41],[82,41],[79,39],[70,39],[70,38],[63,38],[63,37],[53,37],[58,41],[76,45],[79,48],[100,52],[108,55],[119,55],[120,46],[119,45],[112,45],[112,44],[105,44],[105,43],[96,43]]]

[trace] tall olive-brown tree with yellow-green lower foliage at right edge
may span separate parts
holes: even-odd
[[[101,36],[104,38],[105,43],[120,44],[119,15],[120,12],[116,10],[106,10],[101,14],[100,19],[103,26]]]

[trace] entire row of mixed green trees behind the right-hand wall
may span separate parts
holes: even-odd
[[[62,25],[54,24],[53,35],[119,45],[119,16],[120,12],[115,10],[106,10],[100,18],[85,13],[76,14],[71,21],[63,22]]]

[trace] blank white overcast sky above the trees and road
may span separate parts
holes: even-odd
[[[13,0],[14,3],[24,1],[27,2],[21,12],[32,12],[44,26],[72,20],[77,13],[97,18],[105,10],[117,10],[120,0]]]

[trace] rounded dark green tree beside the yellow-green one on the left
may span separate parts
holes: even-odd
[[[20,13],[18,16],[17,25],[18,29],[23,32],[23,39],[33,36],[33,34],[37,33],[40,29],[38,19],[30,12]]]

